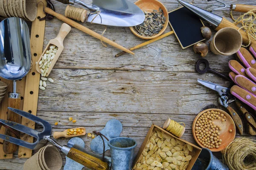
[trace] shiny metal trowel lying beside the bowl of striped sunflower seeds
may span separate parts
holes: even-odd
[[[145,20],[144,12],[128,0],[93,0],[92,6],[80,0],[58,0],[64,4],[80,4],[90,11],[86,21],[107,26],[137,26]],[[98,14],[98,15],[97,15]]]

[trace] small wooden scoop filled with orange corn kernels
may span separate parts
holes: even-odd
[[[73,138],[77,136],[84,136],[85,134],[86,134],[86,130],[84,127],[77,127],[77,128],[64,130],[63,132],[54,132],[53,138],[54,139],[58,139],[61,137]]]

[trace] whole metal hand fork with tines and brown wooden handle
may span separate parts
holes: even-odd
[[[19,114],[20,116],[26,117],[27,119],[30,119],[38,123],[39,125],[43,126],[44,130],[42,132],[38,132],[37,130],[31,129],[24,125],[20,125],[16,122],[0,119],[0,122],[3,123],[4,125],[12,127],[15,130],[19,130],[20,132],[29,134],[30,136],[35,137],[37,140],[34,143],[29,143],[29,142],[26,142],[11,136],[2,135],[2,134],[0,134],[0,139],[11,142],[13,144],[20,145],[22,147],[27,147],[29,149],[39,149],[40,147],[43,147],[44,144],[47,143],[47,141],[49,141],[53,145],[58,147],[61,150],[61,152],[64,153],[67,157],[69,157],[70,159],[73,159],[74,161],[79,162],[80,164],[83,164],[84,166],[92,170],[108,170],[108,163],[103,162],[100,159],[95,158],[93,156],[90,156],[87,153],[81,152],[80,150],[77,150],[73,147],[70,148],[66,145],[61,146],[60,144],[52,140],[50,138],[52,134],[52,127],[49,124],[49,122],[43,119],[40,119],[39,117],[34,116],[30,113],[20,111],[15,108],[9,108],[9,110]]]

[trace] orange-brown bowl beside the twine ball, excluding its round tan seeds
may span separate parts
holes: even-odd
[[[220,119],[214,119],[212,122],[215,123],[215,125],[219,125],[222,130],[220,131],[220,139],[222,139],[222,142],[221,142],[221,145],[219,145],[218,148],[212,148],[212,149],[209,149],[211,150],[212,152],[219,152],[221,150],[223,150],[225,147],[227,147],[228,144],[230,144],[230,142],[232,142],[234,139],[235,139],[235,136],[236,136],[236,125],[235,125],[235,122],[233,121],[232,117],[225,111],[222,111],[220,109],[207,109],[207,110],[204,110],[204,111],[201,111],[198,116],[195,117],[195,120],[193,122],[193,125],[192,125],[192,133],[193,133],[193,136],[194,136],[194,139],[195,141],[199,144],[199,146],[201,147],[204,147],[199,141],[198,139],[196,138],[195,136],[195,124],[196,124],[196,121],[198,120],[198,118],[205,112],[207,111],[217,111],[217,112],[220,112],[220,113],[223,113],[224,116],[226,116],[226,121],[225,122],[221,122]],[[229,130],[232,130],[232,132],[230,133]]]

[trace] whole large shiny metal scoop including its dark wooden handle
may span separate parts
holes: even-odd
[[[11,17],[0,23],[0,77],[13,80],[13,92],[8,94],[8,106],[20,108],[20,94],[16,91],[16,81],[28,74],[31,64],[29,28],[26,22]],[[7,120],[20,122],[20,116],[8,111]],[[6,129],[5,134],[16,136],[17,131]],[[3,151],[14,153],[17,145],[4,141]]]

